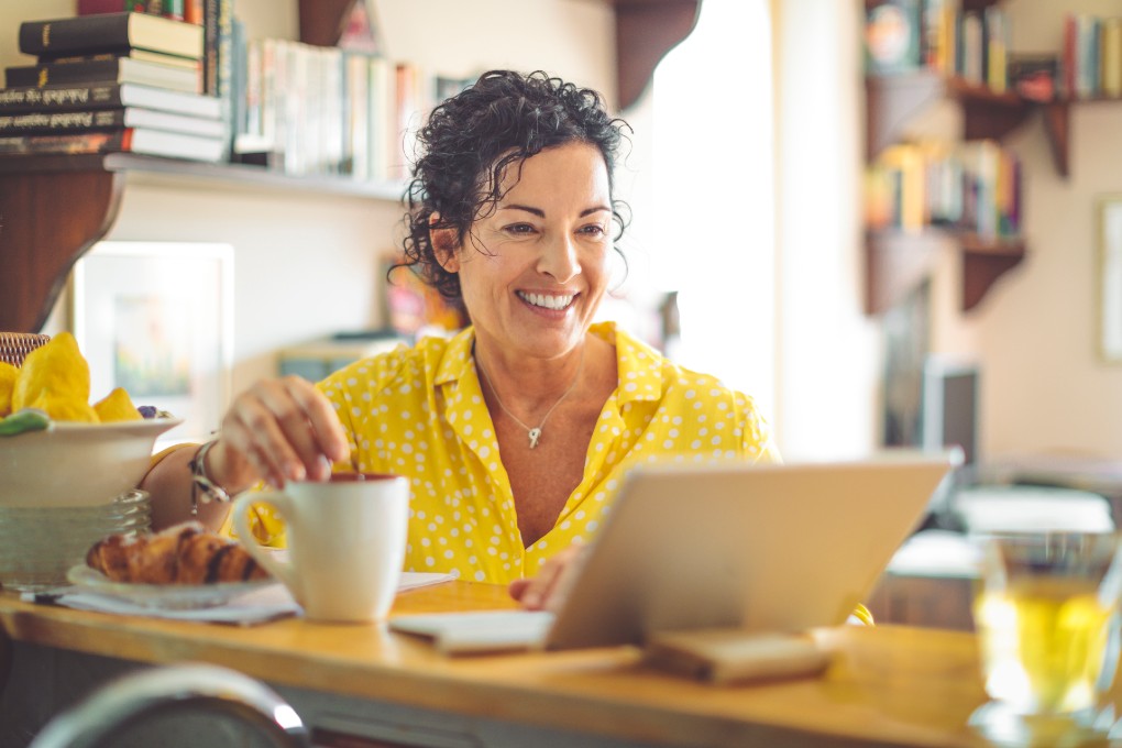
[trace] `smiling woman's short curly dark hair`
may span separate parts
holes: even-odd
[[[568,142],[587,142],[600,150],[610,191],[624,128],[629,129],[608,116],[603,98],[590,89],[542,71],[484,73],[436,107],[417,135],[422,156],[413,164],[405,192],[405,260],[390,271],[407,267],[444,298],[461,302],[460,277],[441,266],[430,231],[453,229],[457,246],[463,247],[472,222],[502,200],[506,169]],[[626,209],[613,198],[617,241],[627,225]],[[440,218],[430,224],[433,213]],[[624,262],[626,267],[626,258]]]

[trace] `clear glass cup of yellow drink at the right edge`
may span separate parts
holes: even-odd
[[[977,538],[974,602],[991,701],[969,723],[999,745],[1079,746],[1114,721],[1122,536],[1020,532]]]

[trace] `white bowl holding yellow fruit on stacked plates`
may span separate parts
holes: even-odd
[[[88,507],[136,488],[156,437],[182,418],[109,424],[58,422],[48,431],[0,436],[0,506]]]

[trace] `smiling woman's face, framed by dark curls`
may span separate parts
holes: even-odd
[[[595,146],[557,146],[507,169],[503,192],[448,269],[459,271],[480,344],[499,355],[562,355],[581,342],[607,288],[607,166]]]

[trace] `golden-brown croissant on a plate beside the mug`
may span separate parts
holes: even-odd
[[[206,532],[199,523],[147,536],[110,535],[93,544],[85,563],[114,582],[139,584],[212,584],[268,578],[243,547]]]

